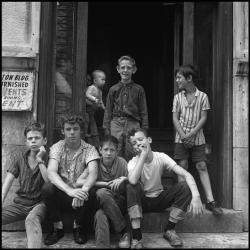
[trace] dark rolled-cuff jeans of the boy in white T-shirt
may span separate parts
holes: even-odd
[[[142,218],[142,212],[160,212],[172,207],[169,217],[177,223],[184,218],[191,198],[191,191],[185,181],[162,191],[154,198],[145,196],[140,183],[127,185],[127,207],[131,219]]]

